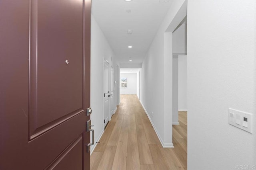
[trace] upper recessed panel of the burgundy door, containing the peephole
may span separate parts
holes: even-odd
[[[82,0],[31,1],[30,139],[84,111],[82,20]]]

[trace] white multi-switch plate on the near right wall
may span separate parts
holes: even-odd
[[[252,133],[252,114],[228,108],[228,123]]]

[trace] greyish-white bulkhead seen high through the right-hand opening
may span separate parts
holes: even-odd
[[[186,54],[187,53],[187,34],[186,24],[183,23],[172,33],[172,53]]]

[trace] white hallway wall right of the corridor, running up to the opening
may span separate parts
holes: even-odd
[[[164,147],[172,147],[172,95],[168,93],[170,100],[169,106],[164,105],[164,89],[172,89],[172,82],[170,84],[166,83],[164,86],[164,81],[170,81],[172,78],[172,65],[166,66],[164,63],[166,59],[172,59],[172,53],[170,53],[168,58],[165,58],[164,54],[164,42],[165,42],[165,31],[169,27],[173,18],[177,14],[178,10],[184,4],[184,0],[172,1],[172,6],[167,12],[166,17],[162,21],[152,44],[145,56],[142,63],[141,70],[141,91],[140,100],[146,109],[146,112],[150,116],[153,126],[158,133],[160,141]],[[182,18],[183,19],[183,18]],[[182,20],[181,19],[181,20]],[[178,25],[178,23],[177,23]],[[172,33],[171,33],[172,34]],[[172,36],[172,35],[170,35]],[[172,42],[168,44],[169,48],[172,48]],[[170,61],[172,64],[172,61]],[[164,78],[164,69],[169,68],[170,78]],[[172,91],[172,90],[170,90]],[[167,101],[167,100],[166,100]],[[169,111],[169,112],[168,112]],[[153,114],[152,114],[153,112]]]

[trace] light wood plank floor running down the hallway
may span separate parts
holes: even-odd
[[[173,125],[174,148],[163,148],[136,95],[121,95],[100,143],[91,155],[91,170],[186,170],[187,112]]]

